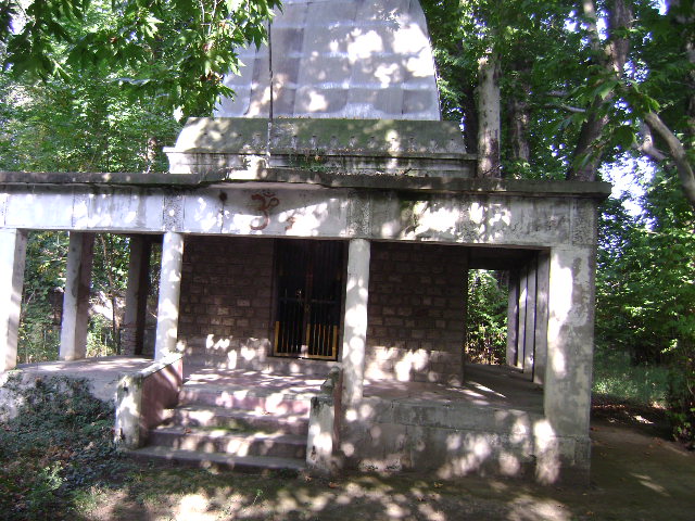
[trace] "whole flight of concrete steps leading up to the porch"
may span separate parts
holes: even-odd
[[[243,472],[304,469],[314,393],[273,383],[191,379],[179,405],[150,430],[148,446],[132,455]]]

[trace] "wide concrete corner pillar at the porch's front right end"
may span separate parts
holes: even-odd
[[[593,247],[553,249],[549,258],[545,416],[555,435],[587,443],[594,350]]]

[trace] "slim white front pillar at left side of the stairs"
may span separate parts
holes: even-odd
[[[164,233],[162,268],[160,272],[160,301],[156,312],[156,341],[154,358],[160,359],[176,351],[178,336],[178,305],[181,293],[184,265],[184,234]]]

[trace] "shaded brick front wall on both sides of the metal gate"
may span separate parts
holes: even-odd
[[[186,239],[178,335],[188,364],[271,363],[273,253],[269,239]],[[459,381],[465,277],[463,247],[372,242],[366,378]]]

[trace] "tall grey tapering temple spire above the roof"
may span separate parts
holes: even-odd
[[[215,116],[441,119],[416,0],[287,0],[269,39],[239,51]]]

